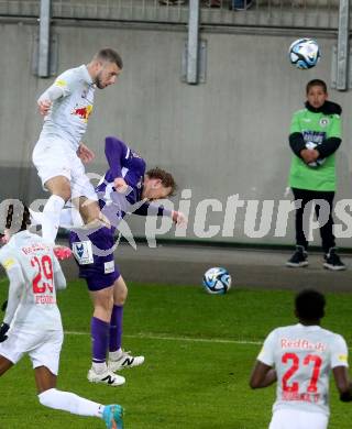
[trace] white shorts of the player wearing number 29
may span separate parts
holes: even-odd
[[[33,332],[14,327],[0,343],[0,355],[15,364],[23,354],[29,354],[33,369],[46,366],[57,375],[63,340],[62,330]]]

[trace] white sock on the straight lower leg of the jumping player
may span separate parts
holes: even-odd
[[[58,195],[52,195],[43,209],[42,237],[50,243],[55,243],[59,226],[59,216],[65,200]]]

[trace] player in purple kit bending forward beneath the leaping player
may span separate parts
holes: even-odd
[[[172,217],[177,224],[185,223],[186,218],[182,212],[150,202],[173,195],[176,184],[169,173],[161,168],[145,173],[144,160],[117,138],[106,139],[106,156],[109,169],[96,191],[109,224],[95,230],[75,229],[69,242],[79,265],[79,277],[86,279],[94,304],[92,365],[88,380],[117,386],[125,380],[114,372],[141,365],[144,356],[132,356],[121,348],[128,287],[114,264],[116,228],[128,211]]]

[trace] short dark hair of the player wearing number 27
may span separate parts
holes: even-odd
[[[320,292],[306,289],[296,296],[295,306],[299,319],[320,320],[324,316],[326,298]]]

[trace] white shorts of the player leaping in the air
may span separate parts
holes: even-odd
[[[86,197],[97,201],[95,188],[85,173],[82,162],[65,140],[42,136],[34,146],[32,161],[44,189],[48,179],[64,176],[70,183],[72,198]]]

